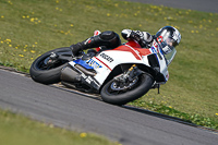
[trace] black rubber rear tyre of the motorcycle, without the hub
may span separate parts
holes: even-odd
[[[71,49],[69,47],[58,48],[38,57],[31,67],[31,70],[29,70],[31,77],[34,81],[38,83],[43,83],[43,84],[53,84],[53,83],[60,82],[61,70],[68,65],[66,60],[60,61],[52,68],[45,68],[45,67],[43,68],[41,65],[45,65],[46,60],[49,58],[51,52],[56,52],[56,53],[66,52],[68,53],[68,51],[69,53],[71,52]]]

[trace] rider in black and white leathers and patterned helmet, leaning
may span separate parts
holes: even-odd
[[[142,48],[150,48],[154,39],[156,39],[162,48],[164,53],[169,53],[173,47],[178,46],[181,40],[180,32],[172,26],[160,28],[156,35],[150,35],[147,32],[123,29],[121,35],[126,40],[135,40]],[[73,56],[78,56],[81,50],[88,48],[101,47],[101,50],[113,49],[121,45],[119,35],[112,31],[106,31],[99,35],[87,38],[82,43],[71,45]]]

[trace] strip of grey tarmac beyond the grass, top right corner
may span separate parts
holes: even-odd
[[[125,0],[125,1],[218,13],[218,0]]]

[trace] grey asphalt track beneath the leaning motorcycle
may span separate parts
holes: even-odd
[[[57,126],[102,134],[123,145],[217,145],[214,132],[111,106],[0,70],[0,107]]]

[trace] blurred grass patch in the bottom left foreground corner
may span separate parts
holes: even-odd
[[[119,145],[93,133],[72,132],[0,110],[1,145]]]

